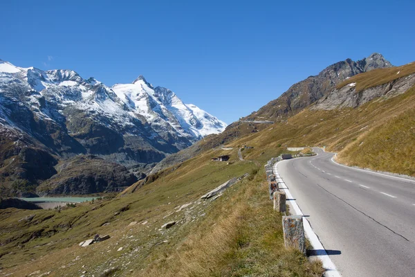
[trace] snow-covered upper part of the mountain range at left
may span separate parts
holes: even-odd
[[[42,71],[0,61],[0,93],[10,96],[12,83],[22,87],[23,97],[29,97],[26,100],[29,109],[37,109],[39,101],[44,100],[50,107],[56,107],[56,111],[36,111],[40,118],[52,120],[51,114],[76,109],[100,116],[106,125],[133,125],[138,120],[148,124],[152,132],[166,138],[169,135],[180,138],[187,145],[208,134],[222,132],[226,127],[199,107],[185,105],[170,89],[153,87],[143,75],[131,84],[107,87],[95,78],[85,80],[72,70]]]

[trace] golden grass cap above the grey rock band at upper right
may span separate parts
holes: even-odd
[[[386,84],[398,78],[405,77],[415,73],[415,62],[405,64],[403,66],[396,66],[387,69],[374,69],[369,72],[360,73],[338,84],[337,88],[340,89],[347,84],[356,82],[356,91],[362,91],[369,89],[370,87],[376,87],[381,84]]]

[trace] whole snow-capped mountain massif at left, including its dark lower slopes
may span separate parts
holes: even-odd
[[[9,188],[21,180],[36,186],[78,154],[129,167],[154,163],[225,127],[141,75],[107,87],[75,71],[0,60],[0,181]]]

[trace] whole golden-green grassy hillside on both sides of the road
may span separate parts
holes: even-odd
[[[414,108],[412,88],[356,109],[304,109],[254,132],[252,126],[235,125],[239,134],[228,129],[205,138],[195,157],[160,170],[114,199],[60,212],[0,211],[0,273],[321,276],[318,262],[284,249],[281,217],[268,199],[264,163],[287,152],[286,147],[320,145],[339,152],[343,163],[415,176]],[[221,143],[233,150],[220,150]],[[245,161],[237,157],[241,145],[252,147],[242,151]],[[210,161],[222,154],[229,154],[230,161]],[[250,177],[219,199],[200,199],[247,172]],[[172,228],[161,228],[172,220]],[[86,248],[78,245],[97,233],[111,238]]]

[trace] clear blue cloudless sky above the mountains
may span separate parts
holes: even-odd
[[[415,60],[415,1],[1,1],[0,59],[138,75],[232,123],[350,57]]]

